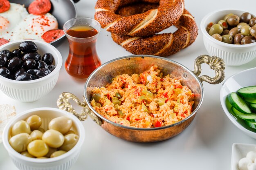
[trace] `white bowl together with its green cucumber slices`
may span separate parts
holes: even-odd
[[[256,68],[229,77],[220,90],[220,103],[230,121],[256,139]]]

